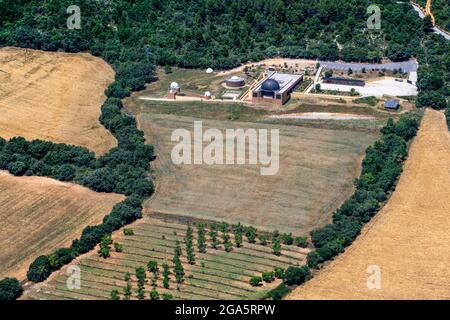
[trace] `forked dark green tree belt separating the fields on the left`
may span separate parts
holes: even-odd
[[[134,83],[138,82],[142,86],[150,81],[151,70],[152,68],[147,65],[146,72],[140,72],[137,78],[133,78]],[[50,160],[61,167],[57,167],[55,171],[55,168],[48,168],[45,163],[41,163],[36,167],[39,171],[37,175],[52,176],[64,181],[76,178],[78,183],[94,191],[116,192],[127,196],[125,201],[113,207],[101,224],[84,228],[81,237],[73,240],[70,247],[57,249],[48,255],[39,256],[33,261],[27,272],[28,280],[43,281],[53,271],[69,263],[76,256],[94,248],[103,235],[142,216],[141,203],[153,193],[153,184],[147,172],[154,155],[152,147],[145,144],[143,133],[136,128],[134,118],[122,113],[120,100],[129,95],[130,89],[124,88],[125,84],[119,83],[119,81],[126,81],[128,77],[133,77],[133,75],[117,75],[116,81],[105,91],[108,98],[102,106],[100,122],[115,136],[118,147],[111,149],[99,159],[94,159],[93,154],[85,148],[65,144],[46,141],[28,142],[21,137],[13,138],[8,142],[2,141],[2,146],[8,148],[8,151],[17,151],[10,156],[7,155],[6,159],[4,157],[2,163],[2,166],[10,172],[14,171],[15,175],[23,175],[27,170],[27,164],[24,161],[36,164],[40,162],[42,156],[45,160],[51,153]],[[38,156],[36,153],[33,154],[31,151],[33,144],[43,147],[44,153],[39,153]],[[66,153],[58,158],[57,150],[61,149]],[[79,166],[77,167],[77,165]],[[33,168],[29,167],[27,174],[35,174]],[[43,168],[45,170],[42,170]],[[79,171],[81,171],[81,176],[78,175]],[[62,175],[58,176],[55,172],[62,173]]]

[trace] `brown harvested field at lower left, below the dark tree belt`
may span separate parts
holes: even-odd
[[[121,195],[42,177],[0,171],[0,278],[25,279],[39,255],[70,245],[87,225],[98,224]]]

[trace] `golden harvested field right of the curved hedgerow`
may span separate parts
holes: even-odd
[[[427,110],[396,191],[358,239],[290,299],[450,299],[450,133]],[[369,290],[368,266],[381,272]]]

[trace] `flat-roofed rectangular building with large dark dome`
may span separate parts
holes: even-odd
[[[303,75],[270,72],[252,90],[252,102],[268,102],[284,105],[295,87],[303,81]]]

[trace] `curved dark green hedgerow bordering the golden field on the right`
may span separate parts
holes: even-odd
[[[410,112],[395,123],[390,119],[382,137],[366,151],[355,193],[333,214],[333,223],[311,232],[315,250],[307,255],[310,268],[343,252],[388,199],[402,172],[408,142],[416,135],[420,112]]]

